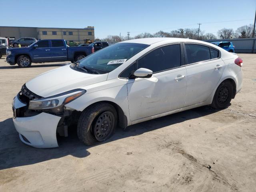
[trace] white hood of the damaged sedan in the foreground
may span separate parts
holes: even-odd
[[[90,84],[106,81],[108,74],[88,74],[70,68],[70,65],[50,70],[26,82],[33,93],[49,97]]]

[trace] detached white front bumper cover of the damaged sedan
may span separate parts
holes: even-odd
[[[14,126],[22,142],[36,148],[58,147],[56,129],[61,119],[60,116],[41,112],[35,116],[17,117],[17,110],[26,107],[26,104],[16,96],[12,105]]]

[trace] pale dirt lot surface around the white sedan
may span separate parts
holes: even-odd
[[[0,59],[0,191],[255,191],[256,54],[239,56],[243,88],[225,110],[150,120],[92,147],[73,132],[52,149],[20,141],[11,102],[27,80],[65,63],[20,69]]]

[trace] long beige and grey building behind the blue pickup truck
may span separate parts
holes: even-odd
[[[70,42],[84,43],[85,39],[94,41],[94,27],[87,28],[43,28],[43,27],[7,27],[0,26],[0,37],[17,40],[22,37],[39,39],[65,39]]]

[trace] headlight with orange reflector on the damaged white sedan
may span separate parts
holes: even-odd
[[[28,108],[32,110],[57,108],[75,100],[85,92],[86,90],[84,89],[75,89],[58,95],[31,100]]]

